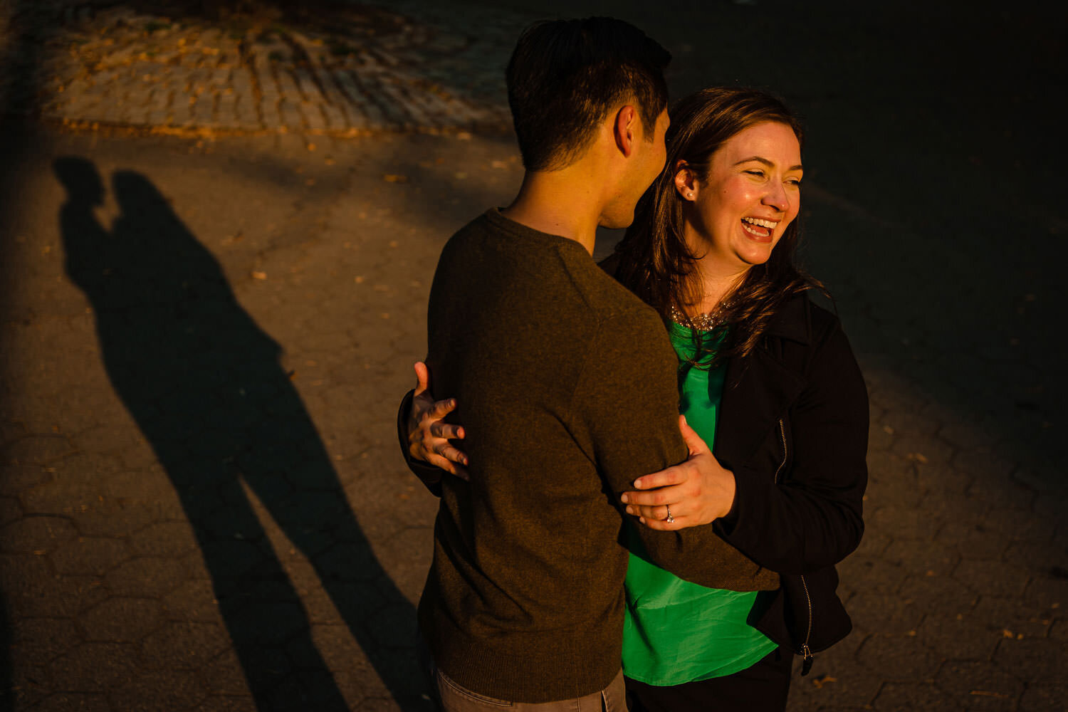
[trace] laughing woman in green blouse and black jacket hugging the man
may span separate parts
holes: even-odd
[[[794,653],[844,637],[834,565],[860,543],[867,396],[836,317],[794,265],[801,129],[778,99],[708,89],[672,110],[668,161],[602,267],[663,317],[679,357],[680,411],[734,474],[714,519],[684,463],[623,495],[635,526],[711,523],[738,552],[731,590],[682,581],[630,537],[624,674],[632,710],[782,710]],[[464,475],[426,371],[408,456]],[[417,470],[418,473],[418,470]],[[748,567],[744,566],[748,564]]]

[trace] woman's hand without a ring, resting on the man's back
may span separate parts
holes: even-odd
[[[430,396],[430,374],[422,361],[415,362],[415,381],[408,413],[408,453],[417,460],[467,479],[467,455],[449,442],[462,440],[464,428],[442,421],[456,408],[456,398],[435,400]]]

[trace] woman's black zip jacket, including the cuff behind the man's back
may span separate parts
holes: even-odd
[[[442,471],[407,454],[405,397],[397,428],[412,472],[440,491]],[[726,375],[713,453],[735,475],[735,503],[712,526],[782,585],[763,591],[750,623],[805,656],[849,633],[834,565],[860,544],[867,485],[867,391],[837,317],[805,296],[787,302],[763,344]]]

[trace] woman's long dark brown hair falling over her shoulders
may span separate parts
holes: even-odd
[[[763,122],[789,126],[803,143],[798,118],[781,100],[759,90],[713,86],[679,99],[671,110],[664,170],[642,195],[634,222],[615,249],[619,258],[616,279],[656,308],[665,322],[671,320],[673,307],[687,314],[687,308],[700,304],[703,297],[701,281],[694,279],[698,255],[687,247],[682,231],[684,201],[675,189],[676,167],[685,161],[706,180],[712,154],[733,136]],[[817,280],[794,264],[799,235],[795,219],[768,262],[751,267],[724,296],[717,316],[727,328],[727,336],[712,359],[703,352],[703,344],[714,343],[718,334],[702,334],[687,318],[685,326],[693,331],[697,345],[692,364],[710,367],[725,359],[749,355],[791,297],[810,288],[826,294]]]

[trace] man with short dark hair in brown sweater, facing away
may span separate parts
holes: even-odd
[[[471,433],[468,479],[413,468],[441,494],[419,620],[446,710],[624,709],[618,495],[687,448],[663,325],[592,253],[663,168],[669,61],[619,20],[528,29],[507,69],[522,187],[438,263],[427,365]],[[702,582],[710,527],[641,528]]]

